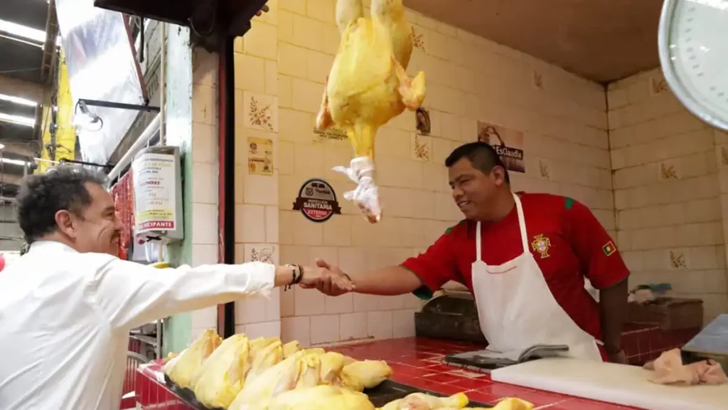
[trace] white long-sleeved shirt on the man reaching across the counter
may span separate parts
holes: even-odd
[[[114,410],[129,331],[274,286],[260,262],[158,269],[36,242],[0,272],[0,409]]]

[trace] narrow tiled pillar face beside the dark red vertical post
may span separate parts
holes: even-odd
[[[253,28],[235,43],[235,260],[279,263],[278,245],[278,6],[253,21]],[[272,175],[256,174],[251,158],[272,146]],[[250,154],[250,143],[257,153]],[[260,168],[259,168],[260,169]],[[285,227],[284,227],[285,229]],[[238,333],[251,337],[280,336],[280,292],[236,303]]]

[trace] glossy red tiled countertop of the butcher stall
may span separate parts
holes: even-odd
[[[660,352],[687,343],[697,330],[668,332],[649,325],[629,325],[622,336],[622,343],[630,363],[641,364]],[[466,392],[473,401],[496,403],[501,398],[517,397],[534,403],[539,409],[549,410],[615,410],[630,409],[610,403],[574,398],[553,392],[533,390],[493,382],[490,376],[443,363],[445,355],[469,352],[483,346],[457,341],[425,338],[389,339],[362,344],[327,347],[356,359],[387,360],[392,367],[395,382],[410,384],[421,389],[442,394]],[[163,382],[157,380],[162,368],[157,363],[138,368],[136,395],[142,409],[189,410]]]

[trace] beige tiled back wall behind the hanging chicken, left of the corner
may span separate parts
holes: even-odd
[[[276,104],[272,96],[277,95],[277,108],[271,108],[280,119],[277,178],[269,178],[266,186],[277,185],[279,241],[273,243],[280,242],[282,263],[313,263],[314,258],[323,258],[344,271],[368,271],[400,263],[424,250],[461,219],[443,160],[454,147],[476,139],[478,120],[525,133],[526,174],[513,174],[515,189],[576,198],[614,230],[604,89],[414,12],[408,12],[416,39],[408,71],[427,73],[425,105],[430,109],[432,132],[415,136],[411,112],[379,131],[377,181],[385,211],[381,223],[368,224],[342,198],[353,184],[331,171],[332,166],[349,164],[349,142],[313,132],[323,82],[339,45],[334,1],[268,4],[271,12],[242,40],[245,53],[238,55],[237,76],[245,90],[263,94],[259,101]],[[276,63],[277,86],[269,83],[276,77],[269,71]],[[245,113],[249,114],[248,107]],[[238,123],[243,121],[249,124],[250,118]],[[312,223],[292,210],[302,183],[312,177],[333,185],[341,215]],[[261,201],[260,193],[253,195],[248,184],[243,185],[245,201]],[[274,195],[265,191],[261,198]],[[254,221],[260,231],[264,220],[260,209],[248,217],[250,206],[245,206],[241,217]],[[247,231],[248,225],[241,223],[240,228]],[[259,234],[248,241],[263,239]],[[331,298],[300,289],[280,295],[282,337],[306,345],[412,336],[414,312],[421,306],[411,295]]]

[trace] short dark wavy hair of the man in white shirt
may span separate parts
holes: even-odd
[[[55,214],[67,210],[80,214],[91,204],[87,183],[104,184],[103,174],[80,166],[60,165],[45,174],[30,175],[20,183],[15,197],[17,223],[25,242],[32,244],[58,228]]]

